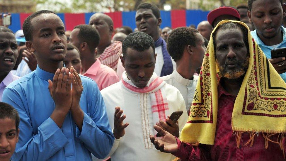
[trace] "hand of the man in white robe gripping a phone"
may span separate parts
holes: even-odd
[[[166,119],[166,122],[159,121],[159,123],[156,123],[157,126],[160,126],[163,130],[168,131],[172,135],[179,137],[179,125],[178,125],[178,119],[183,114],[183,111],[175,111],[171,114],[171,116],[168,116]],[[159,133],[156,134],[156,137],[161,137]]]

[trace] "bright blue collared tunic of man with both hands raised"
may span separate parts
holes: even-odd
[[[80,106],[84,111],[82,130],[76,126],[71,112],[62,128],[50,118],[55,103],[48,90],[48,79],[54,73],[40,67],[9,84],[2,101],[11,104],[20,115],[19,142],[13,160],[92,160],[108,155],[114,141],[103,98],[96,83],[80,76],[84,90]]]

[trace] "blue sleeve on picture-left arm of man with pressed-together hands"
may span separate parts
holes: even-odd
[[[24,105],[25,100],[21,100],[16,91],[6,88],[2,101],[12,105],[20,116],[19,141],[13,156],[15,160],[48,160],[69,143],[62,130],[50,117],[38,127],[37,133],[34,133]]]

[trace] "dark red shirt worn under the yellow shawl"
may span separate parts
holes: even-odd
[[[268,142],[265,149],[265,138],[262,133],[254,136],[252,147],[244,146],[250,138],[249,133],[241,135],[240,148],[236,145],[236,135],[231,128],[231,116],[235,96],[228,94],[221,85],[218,86],[217,128],[214,145],[200,144],[192,146],[177,139],[178,152],[175,156],[181,160],[284,160],[283,151],[276,143]],[[277,141],[278,134],[270,137]],[[286,140],[283,140],[285,145]],[[285,150],[284,146],[284,150]]]

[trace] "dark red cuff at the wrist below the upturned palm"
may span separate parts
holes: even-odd
[[[192,145],[188,145],[186,143],[181,142],[178,138],[177,143],[178,143],[178,151],[174,153],[176,157],[180,158],[181,160],[188,160],[189,157],[189,152],[192,151]]]

